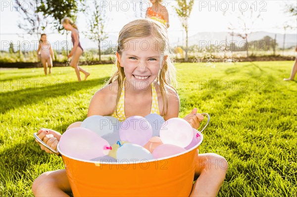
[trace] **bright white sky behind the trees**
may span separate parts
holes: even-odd
[[[149,0],[143,0],[143,16],[145,10],[149,5]],[[92,4],[92,0],[87,1],[88,4]],[[133,5],[138,0],[105,0],[104,5],[107,16],[106,32],[109,32],[110,38],[117,38],[120,29],[129,21],[136,19]],[[253,26],[253,31],[266,31],[272,33],[284,33],[283,25],[285,22],[292,25],[297,24],[297,18],[289,17],[288,13],[285,13],[284,6],[286,3],[291,3],[297,6],[296,0],[195,0],[194,8],[189,19],[189,36],[195,35],[198,32],[228,32],[228,26],[230,21],[235,17],[232,13],[239,10],[244,11],[245,15],[249,12],[246,11],[247,6],[252,6],[255,13],[261,12],[263,20],[258,20]],[[164,0],[163,4],[167,7],[170,16],[170,28],[169,39],[177,40],[182,39],[183,31],[181,23],[174,11],[173,5],[176,5],[175,0]],[[140,5],[137,4],[136,9],[140,9]],[[4,49],[5,41],[17,40],[30,40],[34,39],[30,36],[22,38],[17,35],[23,33],[18,28],[18,22],[21,20],[17,11],[13,9],[15,2],[13,0],[0,0],[0,40],[1,49]],[[228,14],[223,15],[224,10],[227,10]],[[86,16],[84,13],[79,13],[77,18],[77,25],[79,31],[86,31]],[[56,40],[62,41],[65,36],[61,34],[49,34],[54,30],[49,30],[48,39],[50,42]],[[293,30],[287,30],[287,33],[297,34],[296,28]],[[84,35],[80,34],[83,39]],[[92,45],[92,42],[91,42]]]

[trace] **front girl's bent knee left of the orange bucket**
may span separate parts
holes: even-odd
[[[40,175],[32,184],[32,192],[35,197],[69,197],[70,184],[66,170],[55,170]]]

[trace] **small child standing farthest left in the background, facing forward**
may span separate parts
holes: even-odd
[[[37,54],[40,57],[40,61],[45,70],[45,74],[48,75],[48,67],[49,67],[49,74],[51,74],[50,69],[52,67],[52,60],[54,60],[54,55],[46,34],[41,35]]]

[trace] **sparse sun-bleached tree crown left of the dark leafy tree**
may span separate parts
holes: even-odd
[[[37,10],[37,6],[40,5],[40,1],[15,0],[15,2],[18,5],[16,11],[18,11],[21,16],[21,20],[18,21],[18,27],[24,30],[27,34],[35,35],[37,40],[39,40],[40,34],[48,26],[47,18]]]

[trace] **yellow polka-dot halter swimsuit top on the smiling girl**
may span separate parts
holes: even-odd
[[[124,84],[124,82],[125,82],[125,79],[123,81],[123,84]],[[159,105],[158,105],[158,96],[157,96],[157,92],[156,92],[154,83],[151,83],[151,94],[152,94],[152,101],[151,101],[150,114],[160,115]],[[124,121],[126,119],[125,106],[124,106],[125,102],[124,101],[125,101],[125,87],[123,85],[119,103],[116,107],[118,116],[116,115],[115,111],[111,115],[112,117],[117,118],[120,121]]]

